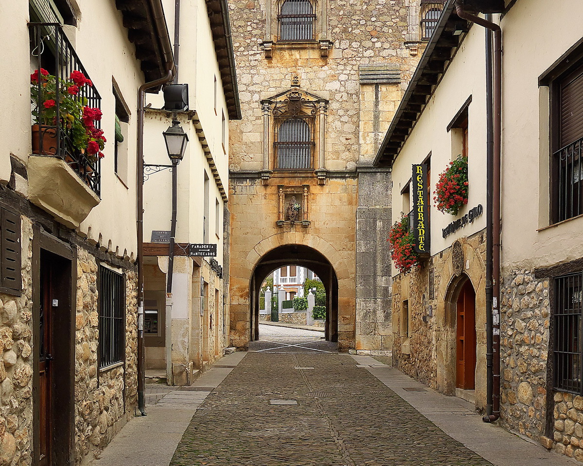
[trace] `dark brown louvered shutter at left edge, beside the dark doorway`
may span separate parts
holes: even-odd
[[[20,296],[20,215],[0,206],[0,291]]]

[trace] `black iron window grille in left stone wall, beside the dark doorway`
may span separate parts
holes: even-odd
[[[125,360],[124,276],[99,267],[99,367]]]

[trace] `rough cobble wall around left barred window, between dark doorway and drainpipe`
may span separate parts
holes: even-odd
[[[134,414],[137,405],[136,274],[126,280],[126,365],[99,370],[99,308],[96,259],[78,249],[75,319],[75,462],[99,453]],[[125,396],[125,403],[124,403]]]

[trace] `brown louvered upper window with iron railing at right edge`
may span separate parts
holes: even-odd
[[[583,214],[583,66],[579,65],[552,84],[553,220]]]

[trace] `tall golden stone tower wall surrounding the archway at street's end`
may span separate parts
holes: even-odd
[[[362,260],[362,267],[370,266],[366,263],[367,257],[377,252],[372,246],[368,247],[364,243],[368,240],[363,238],[359,259],[356,259],[355,218],[360,206],[357,165],[370,163],[419,60],[419,55],[405,47],[408,34],[406,3],[409,2],[316,2],[316,41],[308,44],[278,43],[277,11],[272,8],[275,1],[230,3],[243,114],[241,121],[230,123],[229,132],[230,316],[231,339],[236,346],[245,347],[250,336],[249,290],[255,265],[269,250],[290,243],[314,248],[335,269],[339,280],[339,348],[380,350],[382,345],[390,344],[387,343],[391,337],[386,328],[391,313],[388,276],[380,283],[368,276],[364,294],[358,298],[361,312],[357,317],[355,296],[357,286],[363,284],[359,285],[355,264]],[[324,31],[322,5],[327,5],[328,17]],[[271,33],[268,33],[266,20],[270,11]],[[329,43],[318,43],[318,40]],[[329,50],[326,44],[331,45]],[[375,66],[383,79],[362,79],[363,70],[370,71]],[[294,82],[294,76],[297,76],[297,82]],[[292,85],[320,99],[318,111],[325,108],[325,118],[318,117],[317,123],[324,125],[323,128],[318,126],[318,129],[323,129],[322,136],[315,137],[317,147],[324,150],[324,163],[320,162],[321,154],[315,154],[314,170],[317,173],[269,173],[272,161],[268,160],[267,154],[271,154],[273,136],[266,135],[272,134],[273,118],[269,117],[271,123],[265,124],[264,111],[268,110],[262,108],[261,102],[289,90]],[[267,140],[268,137],[271,139]],[[278,227],[278,187],[301,188],[303,185],[309,187],[310,224]],[[386,207],[387,202],[378,205]],[[384,224],[386,215],[382,215]],[[361,218],[365,220],[365,217],[377,226],[376,220],[368,213],[363,213]],[[385,252],[379,253],[381,259]],[[371,289],[374,287],[378,290]],[[367,299],[369,302],[365,306],[364,300]],[[371,300],[374,299],[384,301],[387,309],[375,310],[373,316],[374,303]],[[357,329],[360,318],[366,320],[363,320],[362,328]],[[384,338],[384,343],[383,337],[388,337]]]

